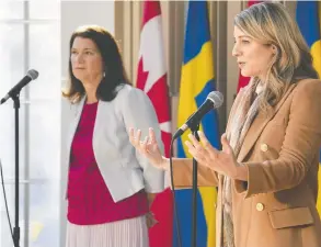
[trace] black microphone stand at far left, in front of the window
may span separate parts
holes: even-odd
[[[13,108],[14,108],[14,137],[15,137],[15,220],[14,220],[14,227],[13,227],[13,242],[14,247],[19,247],[20,242],[20,227],[19,227],[19,109],[20,109],[20,91],[15,94],[12,94],[11,98],[13,100]]]

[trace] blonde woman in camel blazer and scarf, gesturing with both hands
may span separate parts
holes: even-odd
[[[234,18],[241,74],[252,77],[231,109],[222,150],[203,133],[185,144],[199,162],[198,186],[218,186],[217,247],[320,247],[316,209],[321,145],[321,81],[295,21],[279,3]],[[169,169],[154,133],[131,144]],[[192,161],[174,159],[175,187],[191,187]]]

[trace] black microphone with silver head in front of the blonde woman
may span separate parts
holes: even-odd
[[[195,124],[199,123],[202,117],[209,112],[211,109],[219,108],[223,102],[223,96],[219,91],[213,91],[208,93],[205,102],[198,108],[198,110],[193,113],[187,121],[175,132],[173,139],[183,135],[185,131],[193,127]]]

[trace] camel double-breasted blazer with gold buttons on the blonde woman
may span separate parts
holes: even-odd
[[[248,182],[233,180],[236,247],[321,247],[316,209],[320,145],[320,80],[293,85],[275,114],[257,114],[237,157],[249,177]],[[191,161],[174,166],[173,175],[176,188],[191,187]],[[218,186],[217,247],[222,240],[222,182],[223,176],[198,166],[198,187]]]

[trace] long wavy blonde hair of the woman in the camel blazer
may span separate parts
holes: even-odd
[[[234,18],[234,25],[255,41],[276,47],[260,102],[260,109],[264,112],[273,109],[291,83],[302,78],[318,78],[309,47],[283,4],[254,4]],[[252,83],[260,82],[259,78],[252,78]]]

